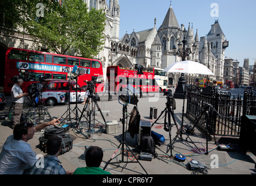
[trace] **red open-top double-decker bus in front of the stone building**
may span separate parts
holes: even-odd
[[[159,85],[155,81],[154,68],[148,68],[143,71],[143,74],[138,74],[137,70],[109,66],[106,69],[106,76],[110,91],[122,91],[123,87],[130,84],[137,91],[141,89],[142,92],[159,92]]]

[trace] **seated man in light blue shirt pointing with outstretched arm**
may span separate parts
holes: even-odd
[[[35,127],[33,123],[17,124],[13,129],[13,135],[10,135],[3,144],[0,153],[0,174],[23,174],[26,166],[33,166],[37,157],[27,141],[33,138],[35,131],[59,123],[59,119],[54,119]]]

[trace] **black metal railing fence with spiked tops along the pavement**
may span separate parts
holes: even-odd
[[[250,90],[244,95],[215,90],[188,90],[187,116],[209,134],[240,136],[241,116],[256,115],[256,96]]]

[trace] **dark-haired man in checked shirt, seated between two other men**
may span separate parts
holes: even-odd
[[[30,170],[30,174],[72,174],[73,171],[65,171],[58,159],[61,153],[61,138],[52,136],[46,143],[47,156],[39,159]],[[44,164],[40,164],[44,163]]]

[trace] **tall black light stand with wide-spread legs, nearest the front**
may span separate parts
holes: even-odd
[[[119,102],[120,103],[120,102]],[[122,103],[121,103],[122,104]],[[130,150],[129,146],[126,144],[126,141],[125,141],[125,123],[127,123],[127,103],[126,104],[122,104],[123,105],[123,118],[122,118],[122,124],[123,124],[123,134],[122,134],[122,141],[120,142],[118,148],[116,149],[115,153],[112,155],[111,159],[108,160],[108,162],[106,162],[105,166],[104,166],[104,169],[106,169],[106,167],[108,166],[108,164],[111,162],[112,159],[114,158],[117,158],[119,155],[122,155],[122,160],[119,160],[119,162],[113,162],[113,163],[138,163],[140,164],[140,162],[138,161],[138,159],[136,158],[136,156],[134,155],[134,153]],[[126,121],[125,121],[126,120]],[[116,152],[118,152],[118,149],[120,148],[120,146],[122,145],[121,147],[121,152],[119,153],[119,155],[116,155]],[[125,145],[126,145],[126,148],[129,149],[129,151],[131,152],[131,154],[133,155],[133,157],[136,159],[136,161],[124,161],[124,156],[125,156]],[[142,167],[142,169],[145,171],[146,174],[147,171],[144,169],[144,167],[140,164],[140,166]]]

